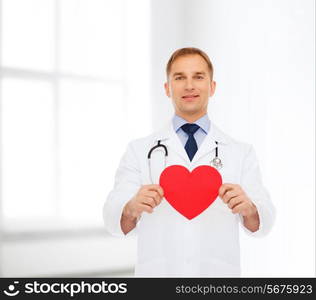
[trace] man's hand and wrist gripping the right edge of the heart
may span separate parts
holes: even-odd
[[[252,232],[259,229],[260,219],[256,205],[238,184],[224,183],[219,188],[219,197],[232,210],[243,216],[244,226]]]

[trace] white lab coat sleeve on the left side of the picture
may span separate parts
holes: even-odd
[[[130,142],[116,171],[114,187],[103,207],[104,225],[111,235],[123,237],[135,234],[136,227],[125,235],[120,221],[125,204],[137,193],[140,186],[140,168],[133,144]]]

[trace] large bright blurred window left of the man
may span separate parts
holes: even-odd
[[[7,228],[102,226],[131,131],[151,129],[145,2],[0,0]]]

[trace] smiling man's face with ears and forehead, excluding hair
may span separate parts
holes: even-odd
[[[203,57],[190,54],[180,56],[172,63],[165,90],[177,115],[198,119],[207,113],[208,100],[213,96],[215,86]]]

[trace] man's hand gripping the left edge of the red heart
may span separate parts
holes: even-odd
[[[123,216],[138,219],[145,211],[152,213],[154,208],[161,203],[163,189],[158,184],[143,185],[137,194],[125,205]]]

